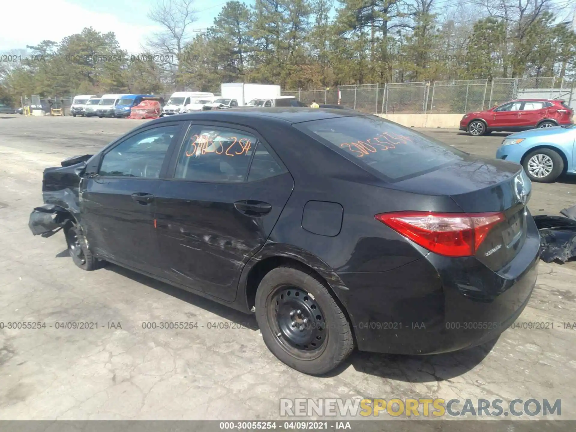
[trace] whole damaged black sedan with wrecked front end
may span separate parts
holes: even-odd
[[[44,172],[33,233],[255,313],[281,361],[488,342],[526,306],[539,233],[520,165],[347,110],[245,108],[145,123]]]

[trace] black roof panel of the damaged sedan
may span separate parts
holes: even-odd
[[[255,125],[262,120],[277,120],[287,123],[309,122],[338,117],[366,115],[365,113],[343,109],[305,108],[305,107],[234,107],[217,111],[200,111],[178,114],[178,120],[211,120],[218,122],[245,123]],[[173,116],[165,116],[153,122],[174,121]]]

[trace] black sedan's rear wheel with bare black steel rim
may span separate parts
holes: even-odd
[[[287,265],[268,272],[256,291],[255,308],[268,349],[302,373],[327,373],[354,350],[346,315],[311,270]]]

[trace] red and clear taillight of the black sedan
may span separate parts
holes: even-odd
[[[374,216],[416,244],[444,256],[472,256],[502,213],[399,211]]]

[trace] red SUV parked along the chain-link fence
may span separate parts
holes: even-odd
[[[460,130],[479,137],[494,131],[519,132],[572,123],[572,110],[563,100],[517,99],[487,111],[469,112]]]

